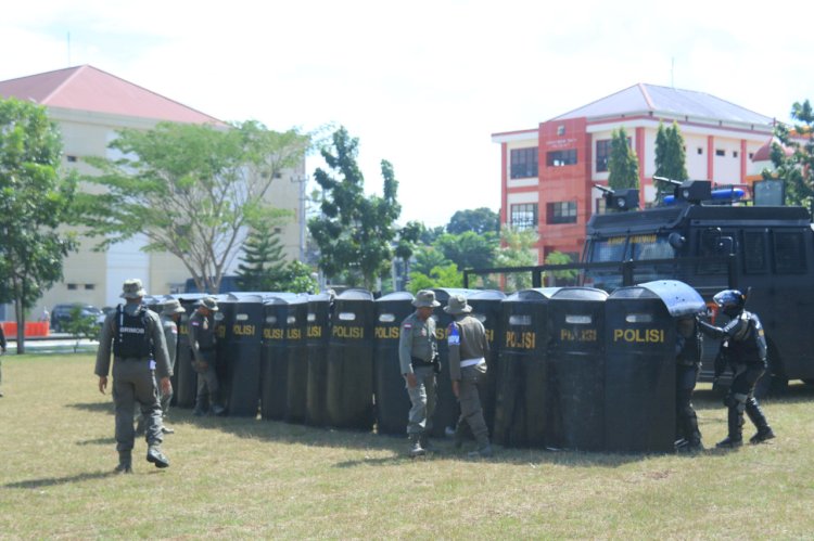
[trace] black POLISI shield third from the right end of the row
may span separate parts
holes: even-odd
[[[507,447],[546,445],[548,302],[557,287],[517,292],[503,301],[500,370],[493,439]]]

